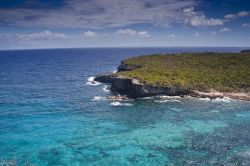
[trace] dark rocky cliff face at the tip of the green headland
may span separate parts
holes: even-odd
[[[126,95],[131,98],[147,97],[155,95],[181,96],[190,92],[178,87],[165,87],[140,83],[139,80],[127,77],[115,77],[113,75],[99,75],[95,81],[110,83],[111,91]]]

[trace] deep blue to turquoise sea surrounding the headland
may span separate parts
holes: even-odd
[[[0,163],[250,165],[250,102],[157,96],[119,102],[91,79],[152,53],[243,48],[0,51]]]

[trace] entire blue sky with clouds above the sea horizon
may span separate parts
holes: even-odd
[[[1,0],[0,49],[249,47],[249,0]]]

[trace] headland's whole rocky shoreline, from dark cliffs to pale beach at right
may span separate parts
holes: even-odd
[[[140,66],[124,65],[123,62],[118,67],[118,73],[121,71],[134,70]],[[156,95],[166,96],[192,96],[198,98],[223,98],[250,101],[250,94],[247,93],[223,93],[218,91],[200,92],[188,89],[182,89],[174,86],[158,86],[141,83],[135,78],[117,76],[113,73],[97,75],[94,79],[97,82],[107,83],[111,85],[111,91],[117,94],[125,95],[129,98],[149,97]]]

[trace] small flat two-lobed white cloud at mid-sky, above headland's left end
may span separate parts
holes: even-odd
[[[141,38],[151,38],[151,35],[148,33],[148,31],[139,31],[133,29],[119,29],[115,32],[116,35],[119,36],[138,36]]]

